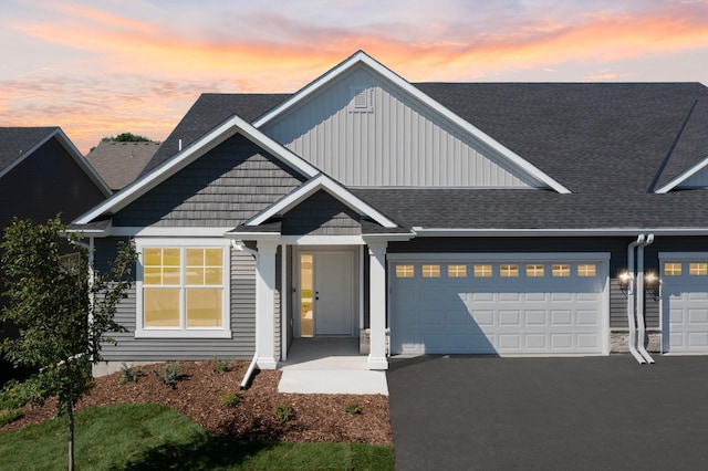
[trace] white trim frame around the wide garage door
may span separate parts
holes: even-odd
[[[421,263],[421,262],[436,262],[436,263],[475,263],[475,262],[496,262],[496,263],[506,263],[513,262],[519,265],[520,270],[525,270],[524,264],[533,263],[533,262],[543,262],[545,264],[552,264],[555,262],[589,262],[596,264],[596,280],[601,283],[601,292],[598,296],[598,341],[600,346],[597,349],[594,349],[592,353],[579,353],[579,355],[608,355],[610,354],[610,278],[608,278],[608,266],[610,266],[610,253],[608,252],[565,252],[565,253],[551,253],[551,252],[538,252],[538,253],[393,253],[388,254],[388,278],[389,278],[389,297],[388,297],[388,315],[389,315],[389,326],[394,327],[392,324],[392,315],[394,308],[394,300],[392,294],[392,286],[395,285],[395,265],[402,264],[402,262],[406,263]],[[444,268],[441,268],[442,270]],[[471,275],[471,273],[468,273]],[[545,276],[551,279],[551,274],[546,273]],[[549,291],[552,293],[552,290]],[[392,332],[392,338],[396,334]],[[501,353],[500,355],[504,356],[514,356],[514,355],[528,355],[525,352],[519,353]],[[549,352],[540,352],[538,355],[549,356],[554,355]],[[555,354],[562,356],[571,356],[570,353]]]

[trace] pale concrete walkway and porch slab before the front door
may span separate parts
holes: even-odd
[[[279,393],[388,396],[385,371],[372,371],[357,338],[296,338],[281,362]]]

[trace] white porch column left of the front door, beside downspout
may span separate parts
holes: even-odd
[[[256,262],[256,353],[258,367],[275,369],[275,251],[278,241],[259,240]]]

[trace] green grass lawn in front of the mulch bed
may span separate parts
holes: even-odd
[[[0,468],[66,469],[66,419],[0,435]],[[79,470],[393,470],[391,447],[252,443],[210,433],[156,405],[95,407],[76,415]]]

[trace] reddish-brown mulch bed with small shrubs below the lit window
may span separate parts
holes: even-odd
[[[259,371],[251,387],[240,391],[236,406],[222,406],[219,399],[239,391],[247,362],[232,362],[233,369],[215,373],[214,362],[181,362],[184,378],[169,388],[156,373],[166,364],[144,366],[136,383],[121,384],[121,373],[96,378],[91,393],[77,405],[77,410],[111,404],[162,404],[173,407],[204,428],[219,435],[246,441],[336,441],[391,444],[388,397],[377,395],[301,395],[278,393],[280,371]],[[361,414],[345,410],[358,404]],[[290,406],[293,418],[279,421],[273,410]],[[0,428],[15,430],[49,420],[56,415],[53,401],[42,407],[24,407],[24,417]]]

